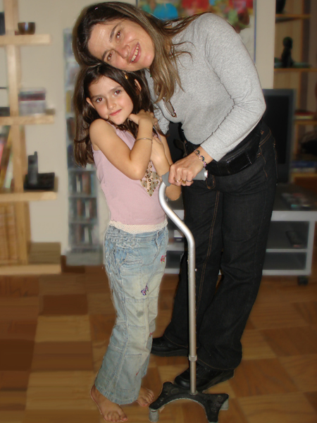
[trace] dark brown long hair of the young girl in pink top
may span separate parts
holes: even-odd
[[[89,127],[93,121],[100,118],[97,111],[87,103],[86,99],[90,98],[90,85],[103,76],[118,82],[123,87],[123,90],[127,92],[133,104],[133,114],[139,113],[142,109],[154,111],[144,71],[125,73],[106,63],[82,67],[77,75],[73,97],[75,111],[74,156],[76,163],[84,167],[87,163],[94,163]],[[141,91],[135,84],[135,80],[139,82]],[[115,126],[120,130],[128,130],[134,137],[137,136],[137,125],[130,120],[125,121],[122,125]]]

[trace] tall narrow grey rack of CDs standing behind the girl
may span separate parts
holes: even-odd
[[[98,192],[96,168],[87,164],[77,166],[73,156],[75,117],[73,92],[79,65],[72,49],[72,30],[63,32],[65,98],[68,162],[68,251],[66,263],[70,266],[101,264],[102,248],[99,240]]]

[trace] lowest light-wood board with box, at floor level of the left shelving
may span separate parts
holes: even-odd
[[[1,275],[40,275],[61,273],[61,244],[32,243],[28,264],[0,266]]]

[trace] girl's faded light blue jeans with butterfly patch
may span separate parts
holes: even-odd
[[[167,244],[166,227],[137,234],[113,226],[106,231],[105,266],[117,319],[95,386],[116,404],[137,400],[147,373]]]

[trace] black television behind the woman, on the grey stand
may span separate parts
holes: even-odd
[[[294,134],[295,90],[263,90],[266,111],[263,120],[271,128],[278,154],[278,182],[290,182]]]

